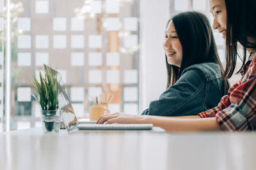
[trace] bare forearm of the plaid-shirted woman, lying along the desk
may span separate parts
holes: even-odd
[[[161,127],[165,131],[220,131],[220,125],[215,117],[212,118],[166,118],[145,117],[143,123]]]

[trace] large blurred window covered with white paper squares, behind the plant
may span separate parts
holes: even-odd
[[[40,106],[31,96],[36,92],[29,76],[38,76],[43,64],[61,72],[77,117],[88,117],[90,96],[104,89],[114,94],[111,112],[131,105],[138,113],[139,0],[13,0],[11,4],[11,129],[40,125]],[[3,17],[0,24],[3,30]],[[0,68],[0,127],[5,128],[3,65]]]

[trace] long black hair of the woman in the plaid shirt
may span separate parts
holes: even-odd
[[[239,73],[246,61],[247,48],[256,48],[256,43],[248,41],[248,37],[256,39],[256,1],[255,0],[225,0],[227,10],[226,34],[226,71],[223,77],[230,78],[236,67],[237,55],[243,61]],[[243,45],[241,57],[237,53],[237,42]]]

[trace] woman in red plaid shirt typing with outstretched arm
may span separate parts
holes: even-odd
[[[255,131],[256,130],[256,1],[209,0],[213,28],[226,39],[226,71],[223,77],[234,73],[237,43],[244,49],[241,80],[218,106],[187,117],[156,117],[115,113],[101,117],[97,123],[151,123],[166,131]],[[246,51],[250,56],[246,56]]]

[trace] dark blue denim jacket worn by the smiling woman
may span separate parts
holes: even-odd
[[[224,81],[218,64],[205,62],[187,67],[179,80],[151,101],[141,115],[180,117],[209,110],[224,96]]]

